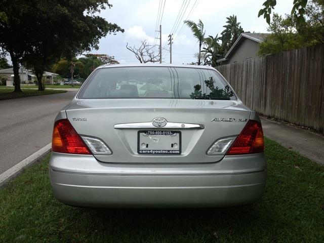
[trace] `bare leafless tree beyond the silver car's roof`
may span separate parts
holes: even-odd
[[[126,48],[135,54],[137,60],[140,63],[147,63],[147,62],[158,62],[159,55],[154,54],[154,46],[148,45],[145,41],[141,42],[141,46],[139,48],[129,47],[128,43],[126,44]]]

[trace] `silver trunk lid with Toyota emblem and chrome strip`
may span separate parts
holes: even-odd
[[[208,148],[219,138],[238,135],[251,110],[230,100],[85,99],[73,102],[66,113],[79,135],[99,138],[112,150],[111,155],[94,155],[102,162],[212,163],[224,155],[207,155]],[[158,117],[164,118],[167,125],[155,127],[152,121]],[[160,136],[145,138],[139,131],[178,135],[159,140]],[[176,136],[181,137],[181,144],[177,144],[181,146],[180,154],[139,153],[144,143],[156,150],[166,146],[162,140],[176,144]]]

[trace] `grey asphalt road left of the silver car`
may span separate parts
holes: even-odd
[[[76,92],[0,101],[0,174],[51,142],[54,118]]]

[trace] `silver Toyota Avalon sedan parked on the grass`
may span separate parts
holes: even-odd
[[[214,68],[106,65],[54,123],[54,196],[80,207],[223,207],[258,200],[261,122]]]

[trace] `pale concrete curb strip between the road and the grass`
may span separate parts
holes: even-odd
[[[52,143],[49,143],[45,147],[39,149],[38,151],[34,152],[24,160],[20,161],[17,165],[13,166],[12,168],[2,173],[0,175],[0,188],[3,187],[10,179],[15,178],[20,173],[22,173],[25,168],[31,166],[39,158],[46,155],[51,150],[51,147],[52,147]]]

